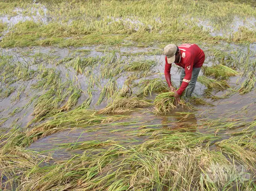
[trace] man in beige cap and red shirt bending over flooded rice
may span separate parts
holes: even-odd
[[[186,97],[190,97],[195,89],[195,83],[200,69],[204,63],[204,52],[196,44],[182,44],[177,47],[169,44],[164,49],[165,54],[165,79],[171,91],[174,92],[175,102],[180,101],[180,96],[184,92]],[[180,88],[176,91],[171,82],[171,67],[175,63],[181,66]]]

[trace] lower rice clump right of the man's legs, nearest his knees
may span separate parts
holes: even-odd
[[[206,76],[198,76],[197,81],[204,84],[208,89],[224,90],[230,87],[225,80],[217,81],[215,79],[207,78]]]

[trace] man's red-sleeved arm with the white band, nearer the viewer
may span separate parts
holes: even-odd
[[[183,91],[186,89],[186,87],[188,86],[191,80],[193,64],[194,64],[194,58],[192,56],[188,56],[185,63],[185,77],[181,83],[180,88],[177,91],[178,95],[181,95],[183,93]]]

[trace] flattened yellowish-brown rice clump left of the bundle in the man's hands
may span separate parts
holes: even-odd
[[[149,107],[151,103],[139,98],[117,98],[109,103],[107,107],[98,111],[98,114],[124,113],[134,108]]]

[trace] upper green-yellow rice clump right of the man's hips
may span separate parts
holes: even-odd
[[[229,68],[228,66],[224,66],[222,64],[214,65],[211,67],[202,66],[202,70],[204,75],[211,76],[214,78],[220,78],[220,79],[228,79],[231,76],[235,76],[239,74],[239,72],[233,70],[232,68]]]

